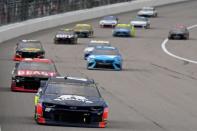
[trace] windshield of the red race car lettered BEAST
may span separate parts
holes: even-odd
[[[55,65],[44,62],[20,62],[18,70],[36,70],[55,72]]]

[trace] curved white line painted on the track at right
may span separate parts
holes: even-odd
[[[196,28],[196,27],[197,27],[197,25],[192,25],[192,26],[189,26],[188,29],[191,30],[191,29]],[[197,61],[193,61],[193,60],[190,60],[190,59],[187,59],[187,58],[183,58],[183,57],[177,56],[177,55],[175,55],[175,54],[169,52],[169,51],[167,50],[167,48],[166,48],[166,44],[168,43],[168,41],[169,41],[169,39],[166,38],[166,39],[162,42],[162,44],[161,44],[161,47],[162,47],[163,51],[164,51],[166,54],[168,54],[168,55],[170,55],[170,56],[172,56],[172,57],[174,57],[174,58],[176,58],[176,59],[179,59],[179,60],[183,60],[183,61],[186,61],[186,62],[190,62],[190,63],[197,64]]]

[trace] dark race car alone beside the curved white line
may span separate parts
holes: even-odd
[[[169,31],[168,39],[189,39],[189,30],[184,25],[176,25]]]

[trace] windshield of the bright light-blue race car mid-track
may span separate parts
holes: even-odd
[[[116,50],[116,49],[95,49],[92,54],[93,55],[118,55],[118,50]]]

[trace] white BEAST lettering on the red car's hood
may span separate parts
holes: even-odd
[[[19,70],[18,71],[18,75],[19,76],[55,76],[56,73],[55,72],[46,72],[46,71],[32,71],[32,70]]]

